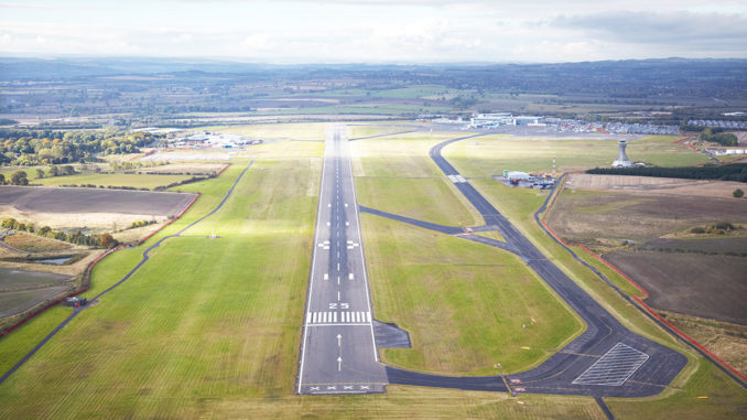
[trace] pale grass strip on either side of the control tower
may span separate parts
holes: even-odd
[[[661,166],[706,163],[708,159],[681,144],[676,137],[651,136],[629,142],[628,158]],[[613,140],[524,139],[486,136],[459,141],[444,150],[452,164],[464,168],[466,177],[484,177],[510,171],[552,171],[555,157],[557,172],[609,166],[617,157]]]

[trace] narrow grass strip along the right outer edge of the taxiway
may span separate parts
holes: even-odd
[[[446,148],[446,155],[450,155],[448,148]],[[488,155],[485,159],[491,158]],[[480,160],[480,154],[475,154],[464,155],[452,162],[456,163],[455,166],[462,173],[479,174],[483,168],[486,168]],[[544,201],[544,193],[535,190],[512,189],[491,180],[473,180],[472,183],[545,255],[628,329],[674,347],[689,356],[690,364],[685,373],[680,375],[672,384],[672,388],[661,396],[647,399],[609,399],[608,405],[616,418],[732,419],[744,414],[747,410],[747,394],[743,388],[711,363],[652,324],[642,313],[630,306],[588,269],[574,261],[567,251],[544,234],[532,217],[533,212]],[[580,256],[591,262],[591,257],[585,257],[583,254]],[[599,267],[598,262],[594,265]],[[611,270],[603,269],[603,272],[618,287],[622,287],[622,290],[629,293],[635,291],[629,284],[626,287],[627,281]],[[705,400],[699,398],[700,396],[711,397]]]

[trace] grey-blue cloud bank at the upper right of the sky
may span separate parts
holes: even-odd
[[[561,15],[550,25],[607,42],[739,51],[747,40],[747,15],[724,13],[605,12]]]

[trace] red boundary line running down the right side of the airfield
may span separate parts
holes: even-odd
[[[686,138],[683,138],[683,139],[681,139],[681,140],[679,140],[679,141],[684,141],[684,140],[686,140],[686,139],[689,139],[689,138],[690,138],[690,136],[688,136]],[[571,250],[571,247],[578,247],[578,248],[583,249],[586,254],[588,254],[588,255],[591,255],[592,257],[594,257],[595,259],[597,259],[599,262],[602,262],[602,263],[604,263],[605,266],[607,266],[608,268],[610,268],[610,269],[611,269],[613,271],[615,271],[616,273],[620,274],[620,277],[622,277],[625,280],[627,280],[630,284],[632,284],[636,289],[638,289],[638,290],[641,292],[641,294],[632,294],[632,297],[631,297],[632,300],[635,300],[636,302],[638,302],[638,304],[640,305],[639,309],[642,308],[642,309],[645,310],[643,312],[647,312],[649,315],[656,317],[656,320],[658,320],[661,324],[664,324],[671,332],[673,332],[675,335],[680,336],[680,338],[684,340],[685,342],[690,343],[693,347],[695,347],[696,349],[699,349],[699,351],[700,351],[702,354],[704,354],[707,358],[712,359],[712,360],[715,362],[717,365],[721,365],[722,367],[728,369],[732,374],[734,374],[734,375],[736,375],[737,377],[739,377],[743,381],[747,381],[747,376],[746,376],[746,375],[744,375],[743,373],[740,373],[739,370],[737,370],[736,368],[734,368],[733,366],[730,366],[729,364],[727,364],[726,362],[724,362],[721,357],[718,357],[718,356],[716,356],[715,354],[713,354],[711,351],[708,351],[705,346],[703,346],[701,343],[699,343],[697,341],[695,341],[693,337],[691,337],[690,335],[685,334],[682,330],[678,329],[676,326],[672,325],[672,323],[670,323],[669,321],[667,321],[663,316],[659,315],[653,309],[651,309],[651,306],[649,306],[648,304],[643,303],[643,299],[647,299],[647,298],[649,297],[649,292],[646,291],[646,289],[643,289],[643,288],[640,287],[638,283],[636,283],[632,279],[630,279],[628,276],[626,276],[626,274],[625,274],[622,271],[620,271],[617,267],[613,266],[611,263],[609,263],[607,260],[605,260],[605,259],[602,258],[600,256],[598,256],[598,255],[594,254],[593,251],[591,251],[591,250],[589,250],[588,248],[586,248],[584,245],[582,245],[582,244],[570,244],[570,243],[566,243],[565,240],[563,240],[563,239],[560,237],[560,235],[557,235],[557,233],[555,233],[555,230],[553,230],[553,229],[545,223],[545,218],[546,218],[546,216],[548,216],[548,213],[550,213],[551,206],[555,203],[557,196],[561,194],[561,192],[562,192],[564,185],[565,185],[566,179],[567,179],[567,176],[565,176],[565,177],[563,179],[563,181],[557,185],[557,187],[556,187],[557,192],[553,195],[552,200],[550,200],[550,201],[548,202],[548,204],[545,205],[545,208],[544,208],[544,211],[543,211],[543,213],[542,213],[542,218],[539,219],[540,223],[542,224],[542,226],[543,226],[549,233],[551,233],[552,237],[553,237],[555,240],[557,240],[559,243],[561,243],[562,245],[564,245],[564,246],[566,247],[566,249],[569,249],[571,252],[573,252],[573,250]],[[584,263],[584,261],[582,261],[582,263]],[[609,280],[608,280],[608,281],[609,281]],[[615,288],[615,289],[617,289],[617,288]],[[621,293],[622,295],[627,297],[627,293],[625,293],[624,291],[621,291],[621,290],[619,290],[619,289],[617,289],[617,291],[618,291],[618,293]],[[740,384],[740,385],[744,387],[744,384]]]

